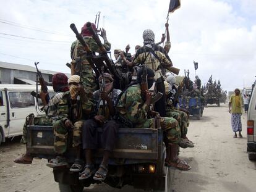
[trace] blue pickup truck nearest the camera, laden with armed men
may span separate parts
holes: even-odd
[[[98,128],[101,133],[101,128]],[[53,145],[53,127],[28,126],[27,152],[33,157],[48,159],[56,154]],[[70,142],[65,156],[69,166],[75,160],[75,152]],[[109,172],[104,183],[114,188],[130,185],[150,191],[170,191],[171,170],[164,166],[166,156],[161,128],[120,128],[117,148],[109,159]],[[99,165],[103,150],[95,151],[95,164]],[[59,183],[60,192],[82,192],[84,187],[100,183],[93,178],[79,180],[79,173],[69,171],[69,166],[53,169],[54,180]]]

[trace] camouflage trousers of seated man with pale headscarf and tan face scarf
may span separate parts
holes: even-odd
[[[83,120],[74,123],[72,128],[66,128],[62,120],[58,120],[53,125],[54,151],[63,154],[67,151],[68,133],[72,133],[72,146],[77,147],[82,143]]]

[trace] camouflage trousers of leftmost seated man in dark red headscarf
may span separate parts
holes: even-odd
[[[28,125],[45,125],[45,126],[52,126],[54,120],[49,119],[48,117],[32,117],[33,114],[30,114],[26,117],[25,123],[23,125],[23,135],[20,143],[26,144],[27,143],[27,127]]]

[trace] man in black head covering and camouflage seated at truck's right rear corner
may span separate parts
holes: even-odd
[[[154,83],[155,73],[146,68],[148,87]],[[116,106],[117,115],[129,120],[134,128],[155,128],[155,118],[148,119],[150,112],[151,94],[146,91],[142,95],[143,69],[137,71],[137,84],[132,85],[123,91],[121,98]],[[176,167],[181,170],[189,170],[191,167],[178,157],[179,144],[181,142],[181,129],[179,122],[171,117],[159,117],[161,129],[164,132],[167,154],[165,164],[169,167]],[[186,145],[186,143],[184,143]]]

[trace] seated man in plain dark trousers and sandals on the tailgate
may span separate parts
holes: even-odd
[[[83,125],[83,149],[87,165],[80,174],[79,179],[84,180],[92,176],[94,164],[92,162],[92,150],[98,149],[97,128],[102,127],[101,148],[104,149],[103,160],[93,179],[103,181],[108,173],[108,159],[116,143],[119,125],[113,120],[117,98],[121,90],[113,88],[113,78],[109,73],[103,73],[99,77],[100,90],[93,93],[95,99],[95,115],[90,120],[86,120]],[[104,85],[105,83],[105,85]]]

